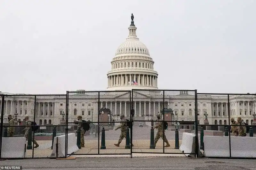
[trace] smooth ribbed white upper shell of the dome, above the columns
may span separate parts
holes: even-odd
[[[149,55],[148,48],[139,40],[127,39],[116,50],[115,55],[119,54],[146,54]]]

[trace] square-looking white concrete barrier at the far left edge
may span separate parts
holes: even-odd
[[[1,158],[24,158],[25,137],[3,137]]]

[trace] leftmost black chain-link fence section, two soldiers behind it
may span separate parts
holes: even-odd
[[[1,158],[51,157],[54,135],[66,132],[65,101],[66,94],[3,95]]]

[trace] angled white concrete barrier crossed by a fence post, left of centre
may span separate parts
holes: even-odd
[[[56,148],[56,144],[58,142],[58,148]],[[58,151],[58,155],[56,152],[56,149]],[[75,133],[68,133],[68,154],[77,152],[79,148],[76,145],[76,134]],[[65,135],[60,135],[57,137],[54,137],[53,140],[53,147],[52,147],[52,153],[51,158],[62,158],[65,157]]]

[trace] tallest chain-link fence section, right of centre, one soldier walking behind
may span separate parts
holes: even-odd
[[[132,153],[186,154],[180,149],[183,132],[197,140],[195,90],[133,89],[132,109]],[[189,154],[197,154],[196,140]]]

